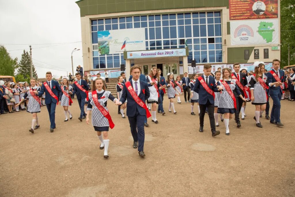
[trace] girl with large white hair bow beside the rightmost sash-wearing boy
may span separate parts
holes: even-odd
[[[254,66],[254,74],[250,79],[251,101],[252,105],[255,105],[254,120],[256,121],[256,126],[262,128],[259,117],[263,114],[266,108],[266,89],[268,89],[268,86],[266,85],[267,77],[264,74],[264,63],[255,62]]]

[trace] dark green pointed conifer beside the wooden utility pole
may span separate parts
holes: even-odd
[[[33,65],[33,77],[38,79],[38,75],[35,70],[35,66]],[[29,52],[24,50],[22,54],[22,59],[19,62],[18,72],[17,74],[22,75],[26,81],[30,81],[31,76],[31,61]]]

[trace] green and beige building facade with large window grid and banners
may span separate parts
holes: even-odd
[[[258,26],[261,25],[261,21],[257,18],[260,15],[253,14],[256,16],[255,19],[235,19],[233,16],[235,16],[234,9],[236,8],[233,1],[77,1],[81,14],[84,71],[99,71],[102,75],[104,70],[114,71],[110,76],[112,78],[118,75],[120,65],[125,65],[128,75],[130,66],[139,64],[142,66],[143,74],[149,74],[150,69],[156,66],[163,70],[164,75],[171,72],[181,75],[189,71],[192,61],[195,61],[198,67],[206,63],[214,65],[235,62],[249,64],[257,60],[271,62],[273,58],[280,58],[280,50],[277,50],[280,40],[279,2],[276,1],[277,3],[273,4],[274,7],[276,5],[278,19],[263,18],[266,26],[269,22],[273,25],[267,29],[260,28],[255,31],[256,27],[251,26],[255,26],[255,22]],[[267,3],[263,5],[266,5],[266,8],[268,6]],[[253,4],[253,13],[256,13],[254,9],[255,4]],[[262,13],[262,15],[266,14]],[[276,25],[278,27],[274,27]],[[271,35],[272,40],[269,34],[261,35],[263,42],[260,42],[260,38],[257,38],[258,33],[262,34],[260,31],[263,33],[276,32],[273,33],[275,35]],[[106,47],[105,45],[114,43],[114,41],[101,41],[107,37],[104,35],[105,32],[124,34],[117,36],[123,36],[125,39],[122,37],[115,42],[118,46],[123,47],[125,41],[125,47],[121,50],[112,50],[113,45]],[[277,40],[275,36],[278,37]],[[140,50],[134,50],[131,40],[137,38],[140,40],[141,37],[143,38]],[[276,50],[272,50],[275,47]],[[133,49],[133,52],[130,49]],[[179,55],[177,50],[183,51],[184,49],[185,52]],[[171,50],[174,54],[169,52]],[[136,52],[156,55],[134,58],[132,54]],[[267,56],[264,52],[267,52]],[[162,53],[161,56],[157,55]]]

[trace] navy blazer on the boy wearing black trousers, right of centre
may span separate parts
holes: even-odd
[[[204,79],[204,75],[202,75],[202,78]],[[205,79],[204,79],[205,81]],[[211,85],[212,84],[212,85]],[[216,84],[215,84],[215,79],[213,76],[209,76],[209,88],[213,90],[213,92],[219,92]],[[207,100],[209,100],[209,102],[211,104],[214,104],[214,97],[212,95],[210,95],[205,88],[202,86],[202,84],[200,83],[199,79],[196,79],[195,85],[194,85],[194,92],[197,92],[199,94],[199,104],[201,105],[206,105],[207,104]]]

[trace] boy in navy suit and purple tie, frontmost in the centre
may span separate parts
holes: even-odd
[[[126,99],[128,100],[126,115],[128,116],[131,134],[133,137],[133,148],[136,149],[138,147],[139,156],[145,157],[145,153],[143,152],[143,145],[145,141],[144,123],[146,116],[148,115],[148,117],[150,117],[150,112],[145,105],[145,100],[150,97],[150,90],[148,88],[148,83],[140,80],[140,72],[140,66],[135,65],[131,67],[130,74],[132,75],[132,79],[125,83],[122,97],[120,101],[116,102],[116,104],[122,105]],[[132,96],[131,92],[136,94],[140,100],[135,101],[136,96]]]

